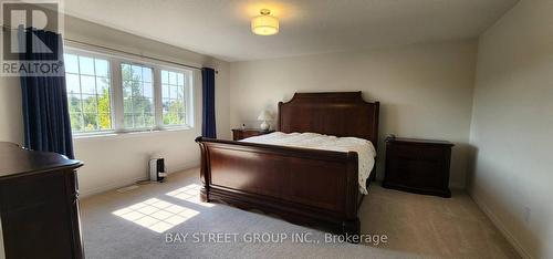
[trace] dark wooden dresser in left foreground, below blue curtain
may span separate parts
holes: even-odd
[[[0,240],[7,259],[84,257],[76,188],[81,166],[59,154],[0,142]]]

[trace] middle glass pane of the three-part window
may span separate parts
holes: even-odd
[[[123,112],[126,128],[154,126],[154,87],[152,69],[121,64],[123,79]]]

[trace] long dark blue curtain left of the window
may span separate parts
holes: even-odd
[[[33,44],[35,39],[44,44]],[[20,54],[23,63],[56,60],[63,64],[63,41],[58,33],[20,28],[19,45],[20,50],[25,50]],[[50,51],[44,51],[46,48]],[[24,145],[33,151],[55,152],[73,159],[65,73],[63,65],[59,69],[55,75],[21,74]]]

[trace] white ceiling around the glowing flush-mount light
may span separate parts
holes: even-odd
[[[65,0],[65,12],[226,61],[468,39],[518,0]],[[269,8],[281,32],[253,35]]]

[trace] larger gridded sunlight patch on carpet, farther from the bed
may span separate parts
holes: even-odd
[[[156,232],[164,232],[199,213],[161,199],[152,198],[112,213]]]

